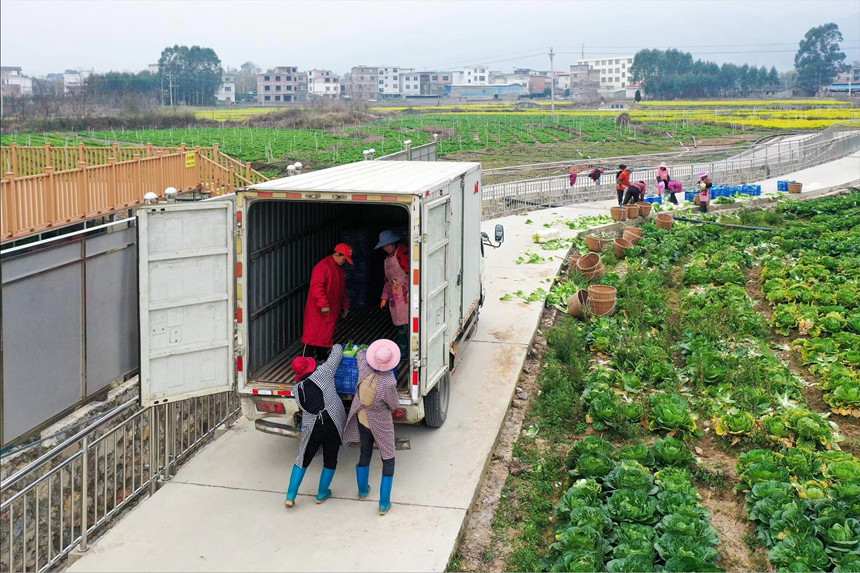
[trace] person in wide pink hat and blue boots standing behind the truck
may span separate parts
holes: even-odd
[[[355,466],[358,498],[370,494],[370,458],[373,442],[382,456],[379,514],[391,509],[394,480],[394,421],[391,412],[399,405],[397,379],[392,369],[400,362],[400,348],[393,340],[381,339],[358,353],[358,387],[343,432],[344,443],[358,442],[361,454]]]

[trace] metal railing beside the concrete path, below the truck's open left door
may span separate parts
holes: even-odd
[[[234,392],[142,409],[134,398],[0,484],[0,570],[46,571],[156,491],[238,414]]]

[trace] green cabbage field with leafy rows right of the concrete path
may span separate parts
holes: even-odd
[[[723,221],[772,232],[647,223],[547,333],[507,570],[860,571],[860,192]]]

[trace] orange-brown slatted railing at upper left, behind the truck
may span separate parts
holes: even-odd
[[[161,195],[203,188],[213,194],[266,181],[250,167],[211,148],[3,147],[4,164],[22,168],[22,175],[3,175],[0,240],[10,241],[48,229],[78,223],[140,205],[147,192]],[[131,157],[129,153],[134,152]],[[111,155],[113,154],[113,155]],[[119,157],[118,161],[116,158]],[[70,166],[75,158],[87,158]],[[58,170],[47,162],[66,167]]]

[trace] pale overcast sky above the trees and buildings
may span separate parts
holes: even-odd
[[[566,70],[584,44],[586,58],[677,48],[783,72],[806,31],[828,22],[847,61],[860,60],[860,0],[0,0],[0,61],[34,76],[139,71],[166,46],[198,44],[224,67],[548,69],[553,46]]]

